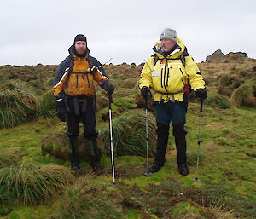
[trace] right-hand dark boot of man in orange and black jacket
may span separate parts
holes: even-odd
[[[96,139],[87,139],[88,142],[88,150],[90,156],[90,165],[93,171],[102,170],[101,167],[101,156],[97,147]]]

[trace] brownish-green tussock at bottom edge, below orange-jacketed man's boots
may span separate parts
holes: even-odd
[[[55,219],[120,218],[122,201],[123,197],[110,185],[96,184],[84,176],[66,188],[52,214]]]

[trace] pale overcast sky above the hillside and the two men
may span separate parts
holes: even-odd
[[[104,63],[140,64],[166,27],[196,62],[218,48],[256,58],[255,0],[1,0],[0,65],[59,64],[79,33]]]

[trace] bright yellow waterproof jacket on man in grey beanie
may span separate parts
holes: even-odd
[[[154,101],[167,102],[172,98],[183,101],[183,88],[188,80],[193,90],[205,88],[201,72],[181,39],[177,38],[177,45],[170,55],[165,56],[161,53],[160,41],[155,44],[153,50],[154,55],[149,57],[143,66],[139,86],[154,89]],[[180,58],[181,55],[184,63]],[[158,60],[154,65],[155,56]]]

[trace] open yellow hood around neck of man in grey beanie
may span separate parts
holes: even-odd
[[[180,38],[177,38],[177,43],[175,45],[174,50],[172,51],[171,54],[167,55],[167,57],[172,56],[173,58],[177,58],[183,54],[184,49],[185,49],[185,45],[184,45],[183,41]],[[156,43],[154,43],[153,50],[154,50],[154,53],[156,55],[158,55],[160,58],[165,57],[165,55],[161,51],[160,40],[158,40]]]

